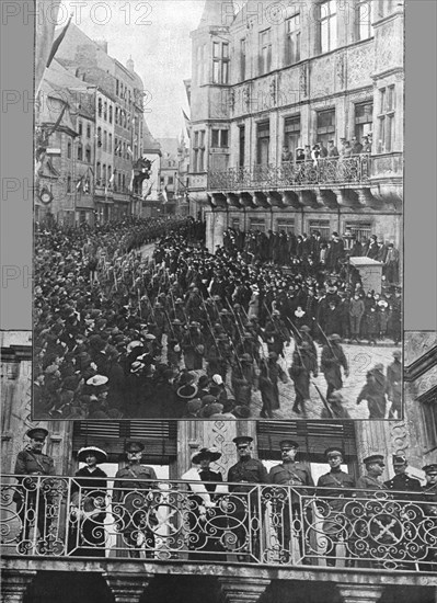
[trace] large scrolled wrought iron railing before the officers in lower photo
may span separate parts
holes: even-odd
[[[437,502],[425,493],[140,486],[4,476],[2,555],[437,570]]]

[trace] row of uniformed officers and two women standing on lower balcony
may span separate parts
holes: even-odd
[[[15,475],[20,486],[15,489],[14,502],[22,522],[18,539],[23,551],[26,550],[30,530],[36,524],[39,553],[50,553],[51,520],[50,513],[46,512],[50,504],[50,482],[45,481],[44,489],[38,493],[26,480],[26,476],[56,476],[54,459],[43,453],[47,435],[45,429],[31,429],[27,432],[30,443],[16,458]],[[378,564],[388,562],[399,569],[417,569],[417,564],[424,571],[435,569],[437,558],[433,533],[437,527],[437,464],[423,467],[426,485],[422,487],[409,474],[406,457],[396,454],[392,459],[394,477],[381,481],[384,457],[371,454],[364,458],[366,474],[356,480],[344,470],[344,451],[331,446],[324,453],[329,471],[321,475],[314,485],[310,465],[296,458],[298,442],[287,439],[279,443],[281,463],[274,465],[269,471],[261,460],[253,458],[252,437],[238,436],[233,443],[239,459],[228,470],[226,487],[220,485],[223,475],[209,468],[210,463],[221,456],[217,450],[202,448],[195,453],[192,463],[199,469],[182,476],[182,480],[188,481],[193,493],[188,522],[195,532],[188,538],[193,543],[192,550],[223,554],[225,541],[220,532],[229,531],[229,525],[232,525],[234,551],[240,560],[260,559],[260,520],[266,512],[268,501],[280,550],[279,562],[287,564],[298,557],[298,562],[311,564],[311,557],[320,557],[319,544],[314,543],[313,535],[320,531],[322,520],[325,542],[322,555],[327,566],[335,566],[336,557],[342,556],[349,567],[363,560],[364,567],[369,567],[369,564],[370,567],[380,567]],[[151,467],[141,465],[143,451],[145,445],[140,442],[126,444],[127,465],[117,471],[113,493],[117,530],[133,557],[139,557],[140,548],[153,555],[154,528],[159,524],[157,511],[161,498],[158,478]],[[72,555],[99,556],[106,546],[103,522],[108,492],[107,476],[97,465],[107,460],[107,454],[99,447],[88,446],[79,451],[78,460],[85,466],[76,473],[72,481],[68,547]],[[203,483],[207,483],[207,488]],[[252,488],[254,485],[262,487],[261,498],[253,496],[256,492]],[[231,499],[225,501],[225,494],[231,496]],[[89,511],[92,509],[93,513],[83,513],[87,508]],[[35,510],[36,520],[32,519]],[[223,517],[229,514],[234,521],[230,524],[228,517],[223,523]],[[154,520],[151,521],[151,517]],[[258,520],[256,523],[255,517]],[[208,532],[208,525],[214,525],[215,530]],[[413,542],[409,543],[409,537]],[[298,548],[299,555],[292,555],[294,547]],[[197,555],[194,558],[202,557]]]

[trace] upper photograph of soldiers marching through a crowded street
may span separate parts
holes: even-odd
[[[41,420],[401,418],[402,1],[36,2]]]

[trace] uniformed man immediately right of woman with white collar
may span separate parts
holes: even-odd
[[[261,460],[252,458],[253,437],[240,435],[232,442],[237,446],[239,460],[230,467],[227,481],[232,482],[229,485],[229,509],[232,509],[234,517],[240,523],[234,530],[237,548],[239,551],[251,550],[258,558],[261,535],[251,520],[260,517],[262,509],[257,490],[251,485],[268,483],[268,474]],[[246,560],[245,556],[243,555],[240,560]]]

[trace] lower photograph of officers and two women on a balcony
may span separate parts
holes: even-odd
[[[392,421],[32,421],[1,355],[5,602],[435,602],[436,332]]]

